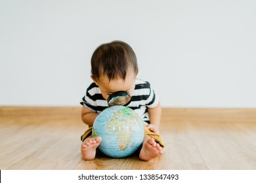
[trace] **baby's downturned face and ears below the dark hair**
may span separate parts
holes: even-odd
[[[115,80],[110,80],[108,76],[100,76],[98,80],[94,80],[98,88],[100,88],[100,92],[104,99],[108,99],[108,97],[118,91],[126,91],[133,95],[135,90],[135,73],[127,73],[125,80],[122,78],[117,78]]]

